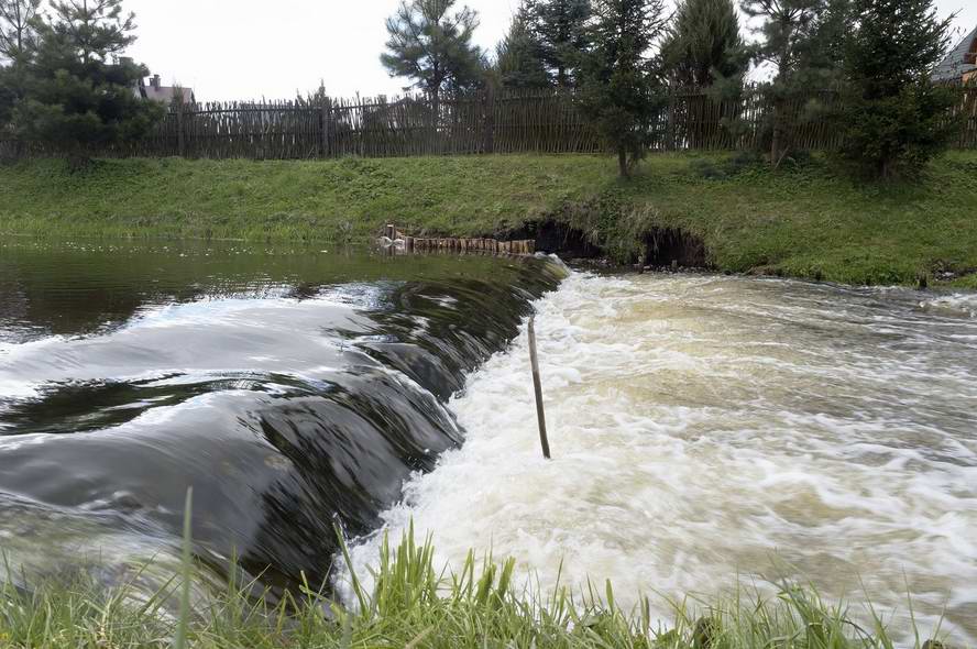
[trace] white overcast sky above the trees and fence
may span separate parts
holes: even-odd
[[[459,4],[464,0],[459,0]],[[394,95],[406,84],[380,64],[384,20],[398,0],[125,0],[139,40],[130,54],[198,101],[288,99],[319,86],[334,97]],[[476,41],[492,47],[518,0],[468,0]],[[958,32],[977,25],[977,0],[936,0],[958,12]],[[958,34],[957,37],[960,35]]]

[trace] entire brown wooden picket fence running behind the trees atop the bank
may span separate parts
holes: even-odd
[[[812,90],[786,107],[799,148],[841,143],[832,111],[837,95]],[[700,89],[672,89],[652,120],[655,150],[756,150],[766,145],[771,102],[762,86],[733,100]],[[960,87],[954,142],[977,148],[977,87]],[[6,143],[8,154],[12,145]],[[4,143],[0,142],[0,154]],[[581,116],[579,98],[560,90],[482,91],[442,97],[315,99],[174,107],[140,141],[89,151],[92,156],[296,160],[480,153],[599,153],[603,145]],[[24,145],[20,154],[56,153]]]

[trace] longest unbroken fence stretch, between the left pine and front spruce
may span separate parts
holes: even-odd
[[[316,158],[594,153],[596,133],[566,92],[476,92],[176,107],[120,155]],[[111,153],[111,152],[107,152]]]

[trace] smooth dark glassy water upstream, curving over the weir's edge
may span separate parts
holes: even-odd
[[[461,433],[444,400],[562,271],[207,245],[0,249],[0,541],[108,581],[176,554],[326,580]],[[15,571],[20,575],[20,571]]]

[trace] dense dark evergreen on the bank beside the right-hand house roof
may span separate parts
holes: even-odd
[[[853,19],[843,155],[869,177],[915,176],[953,132],[954,94],[929,76],[952,18],[941,20],[932,0],[853,0]]]

